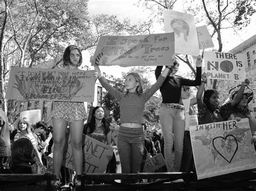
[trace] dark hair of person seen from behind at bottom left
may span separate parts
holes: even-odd
[[[28,138],[19,138],[11,147],[11,166],[22,162],[35,163],[35,160],[33,160],[33,145]]]

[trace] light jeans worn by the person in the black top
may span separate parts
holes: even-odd
[[[185,131],[184,110],[160,108],[160,123],[164,137],[164,156],[168,172],[179,172],[183,155],[183,139]],[[172,148],[174,143],[174,160]]]

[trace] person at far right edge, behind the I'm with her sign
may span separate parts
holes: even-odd
[[[231,95],[231,101],[237,96],[238,91],[234,91]],[[228,120],[234,120],[237,118],[248,118],[251,133],[252,133],[252,142],[254,143],[254,147],[256,149],[256,122],[255,117],[252,111],[248,109],[248,103],[250,103],[253,99],[253,92],[244,93],[242,95],[242,100],[233,108],[233,112],[228,117]]]

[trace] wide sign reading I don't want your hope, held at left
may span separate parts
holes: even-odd
[[[12,68],[6,99],[93,102],[95,70]]]

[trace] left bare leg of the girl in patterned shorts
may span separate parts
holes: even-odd
[[[53,173],[59,179],[60,168],[62,167],[66,127],[68,122],[64,119],[52,118],[53,127]]]

